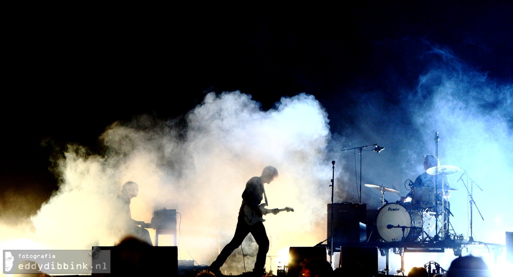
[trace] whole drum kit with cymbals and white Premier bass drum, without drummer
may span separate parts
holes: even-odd
[[[459,172],[461,169],[457,166],[438,166],[426,170],[429,175],[436,175],[433,177],[441,177],[444,179],[445,175]],[[381,191],[382,206],[378,210],[376,217],[376,229],[380,238],[385,242],[399,242],[399,241],[428,241],[445,239],[444,236],[448,235],[448,219],[452,215],[449,210],[448,199],[452,191],[446,187],[443,191],[439,189],[439,194],[443,197],[438,197],[435,193],[435,188],[432,187],[412,187],[411,199],[388,203],[385,200],[385,192],[397,193],[399,191],[385,187],[383,185],[365,184],[366,187]],[[400,194],[399,194],[400,195]],[[435,227],[433,236],[430,233],[433,231],[431,226],[432,220],[441,221],[441,228]],[[438,226],[438,222],[436,222]]]

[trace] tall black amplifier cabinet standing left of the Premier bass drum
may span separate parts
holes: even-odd
[[[334,203],[333,220],[331,204],[328,204],[328,245],[331,246],[331,225],[333,225],[333,248],[347,243],[361,243],[367,240],[367,229],[363,223],[367,215],[366,204]]]

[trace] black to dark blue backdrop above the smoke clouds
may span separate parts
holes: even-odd
[[[435,48],[513,81],[511,2],[267,5],[7,11],[0,211],[16,210],[7,205],[16,195],[37,195],[16,212],[37,210],[57,189],[50,158],[66,144],[99,153],[113,122],[179,117],[206,92],[240,90],[264,110],[306,92],[326,108],[331,131],[344,133],[363,112],[352,105],[370,92],[393,105],[415,90]]]

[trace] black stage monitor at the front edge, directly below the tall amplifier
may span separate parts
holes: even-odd
[[[374,276],[378,272],[378,247],[341,247],[337,271],[344,276]]]

